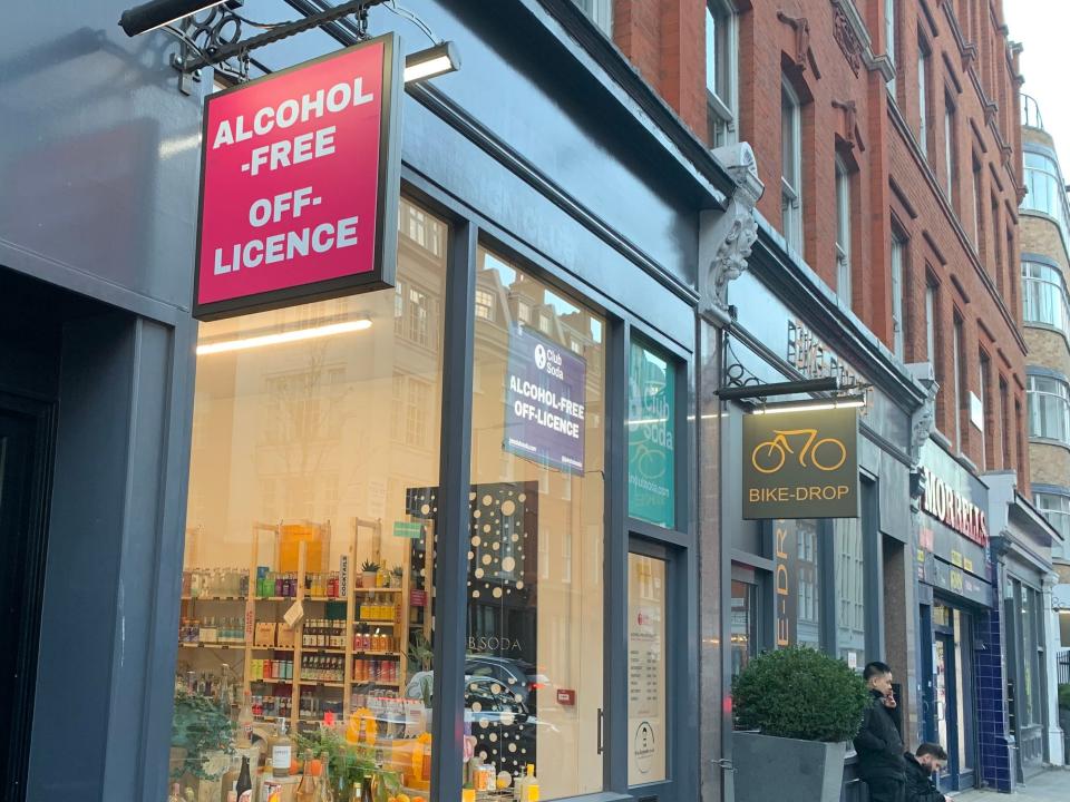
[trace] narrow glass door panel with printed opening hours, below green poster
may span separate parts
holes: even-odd
[[[629,785],[665,780],[665,563],[628,557]]]

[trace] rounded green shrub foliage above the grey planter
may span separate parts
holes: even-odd
[[[740,730],[833,743],[857,734],[869,704],[865,681],[846,663],[800,646],[751,659],[732,695]]]

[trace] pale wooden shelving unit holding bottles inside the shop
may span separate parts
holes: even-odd
[[[344,554],[348,558],[348,564],[350,566],[349,573],[349,588],[348,593],[341,594],[342,588],[340,588],[340,595],[338,597],[331,596],[312,596],[305,595],[305,577],[309,573],[309,547],[305,541],[298,544],[298,565],[296,565],[296,587],[293,596],[257,596],[255,593],[256,589],[256,569],[257,566],[263,565],[263,560],[260,558],[260,555],[263,554],[262,546],[264,542],[262,538],[271,537],[273,538],[272,550],[274,551],[274,559],[272,565],[275,570],[281,570],[282,566],[280,565],[280,544],[283,537],[283,526],[282,524],[264,524],[255,522],[252,526],[252,542],[250,548],[250,561],[249,561],[249,588],[250,591],[247,595],[188,595],[183,596],[183,616],[196,617],[195,612],[196,607],[202,604],[210,604],[213,606],[216,605],[243,605],[244,609],[244,643],[234,642],[234,643],[181,643],[179,646],[183,649],[188,649],[191,654],[195,654],[194,649],[210,649],[216,651],[218,653],[237,653],[242,655],[243,665],[237,672],[237,676],[242,677],[242,687],[244,691],[252,691],[253,686],[260,686],[265,688],[274,687],[289,687],[290,688],[290,726],[295,728],[300,722],[311,722],[312,717],[307,715],[301,715],[301,693],[302,689],[308,692],[310,688],[321,688],[330,689],[332,692],[341,691],[341,702],[342,711],[344,715],[348,715],[349,711],[352,710],[353,702],[353,692],[354,688],[358,689],[358,693],[361,688],[373,689],[378,688],[380,692],[392,691],[399,692],[403,691],[408,682],[408,671],[409,671],[409,661],[408,661],[408,644],[409,644],[409,628],[411,623],[411,558],[412,558],[412,544],[407,542],[402,549],[402,560],[401,565],[405,570],[401,576],[401,587],[358,587],[358,583],[361,578],[360,573],[360,561],[358,561],[358,544],[362,539],[362,534],[368,531],[370,532],[370,542],[360,544],[364,546],[360,550],[360,557],[368,558],[374,563],[380,561],[380,546],[382,537],[382,524],[380,521],[369,521],[356,519],[353,521],[352,528],[348,532],[348,542],[346,544]],[[325,524],[309,524],[303,522],[302,526],[308,526],[312,528],[317,537],[320,539],[320,542],[323,544],[323,548],[330,549],[330,536],[331,527],[330,522]],[[201,532],[196,532],[196,539],[201,539]],[[200,549],[198,549],[200,550]],[[337,568],[337,567],[335,567]],[[321,566],[315,566],[312,568],[313,571],[320,571]],[[430,575],[430,555],[427,559],[427,571],[428,576]],[[383,618],[361,618],[360,604],[362,600],[368,599],[371,596],[378,596],[381,599],[391,599],[395,608],[395,617],[390,619]],[[430,597],[430,593],[428,593]],[[256,624],[259,622],[270,622],[276,625],[275,637],[278,638],[278,625],[284,623],[284,615],[288,609],[294,604],[300,603],[304,609],[304,616],[301,622],[293,628],[293,646],[259,646],[255,644],[255,630]],[[328,620],[338,620],[329,619],[327,612],[321,605],[327,605],[330,603],[344,603],[346,605],[346,619],[342,627],[343,633],[343,648],[337,647],[321,647],[321,646],[304,646],[304,628],[309,619],[328,619]],[[386,604],[386,602],[385,602]],[[430,604],[428,598],[427,604]],[[210,613],[208,615],[214,615]],[[232,614],[233,615],[233,614]],[[426,622],[429,619],[429,616],[424,616],[425,623],[421,623],[420,626],[427,628],[429,624]],[[359,626],[367,625],[368,627],[373,627],[378,629],[390,630],[392,634],[393,640],[397,644],[396,651],[376,651],[376,649],[357,649],[354,648],[354,635]],[[253,659],[259,659],[266,655],[284,655],[284,659],[293,662],[293,675],[289,679],[279,679],[274,677],[266,677],[263,679],[253,679],[252,674],[252,663]],[[301,676],[302,663],[304,656],[341,656],[343,657],[342,662],[342,682],[328,682],[319,679],[307,679]],[[358,659],[372,659],[372,661],[392,661],[398,663],[398,678],[397,679],[354,679],[354,667],[356,661]],[[337,697],[335,697],[337,700]]]

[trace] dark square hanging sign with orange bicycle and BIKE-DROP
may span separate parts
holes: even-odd
[[[743,415],[743,518],[857,518],[858,410]]]

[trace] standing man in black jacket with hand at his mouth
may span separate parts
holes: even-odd
[[[892,669],[885,663],[869,663],[862,676],[872,698],[855,736],[858,776],[869,786],[870,802],[904,802],[906,762],[892,693]]]

